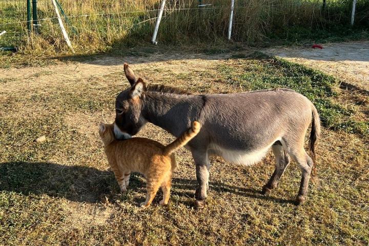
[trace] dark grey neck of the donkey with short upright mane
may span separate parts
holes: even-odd
[[[143,115],[152,124],[178,137],[198,120],[202,98],[199,95],[148,92]]]

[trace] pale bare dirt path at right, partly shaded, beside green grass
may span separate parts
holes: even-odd
[[[266,51],[322,70],[347,84],[369,90],[369,41],[323,45],[323,49],[287,47]]]

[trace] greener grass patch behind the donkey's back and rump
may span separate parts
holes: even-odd
[[[242,55],[235,55],[242,58]],[[352,119],[355,112],[334,103],[339,80],[321,71],[292,63],[282,58],[254,53],[241,62],[241,70],[220,65],[218,70],[227,82],[243,90],[289,88],[308,97],[318,109],[323,125],[369,136],[369,122]]]

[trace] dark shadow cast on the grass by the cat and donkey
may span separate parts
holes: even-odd
[[[197,181],[173,178],[172,195],[181,197],[180,202],[192,206]],[[139,203],[145,200],[146,182],[139,174],[130,178],[130,192],[142,192],[143,196],[134,199]],[[276,202],[293,202],[290,200],[264,197],[260,191],[210,182],[210,189],[215,192],[228,192],[245,197],[272,199]],[[119,188],[113,172],[98,170],[86,166],[64,166],[52,162],[1,162],[0,191],[11,191],[24,195],[47,194],[63,197],[72,201],[99,203],[106,197],[114,197]],[[158,192],[160,194],[161,191]],[[155,200],[159,200],[161,195]]]

